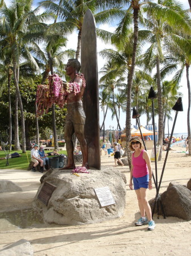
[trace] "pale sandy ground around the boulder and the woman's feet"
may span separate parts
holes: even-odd
[[[187,184],[191,174],[191,158],[185,148],[170,151],[164,171],[160,192],[167,189],[169,182]],[[149,152],[149,151],[148,151]],[[158,163],[158,180],[165,158]],[[113,157],[101,156],[101,165],[114,166]],[[152,163],[154,168],[154,163]],[[116,167],[127,177],[129,168]],[[31,202],[40,185],[40,172],[0,170],[1,179],[9,179],[22,187],[23,192],[0,194],[0,212],[31,207]],[[139,209],[134,191],[126,185],[126,208],[124,216],[98,224],[80,226],[58,226],[39,224],[32,228],[19,229],[6,219],[0,219],[0,251],[22,238],[28,240],[34,255],[191,255],[191,221],[176,217],[158,219],[155,230],[146,226],[136,227]],[[148,191],[148,199],[156,194],[155,188]]]

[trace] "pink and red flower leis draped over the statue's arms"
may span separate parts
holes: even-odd
[[[82,86],[86,87],[86,81],[83,74],[76,74],[82,79]],[[80,92],[80,86],[77,82],[67,82],[66,89],[63,87],[62,80],[57,74],[49,75],[48,85],[38,85],[36,93],[37,115],[43,115],[44,111],[48,113],[53,104],[60,108],[65,105],[67,96],[70,93],[75,95]]]

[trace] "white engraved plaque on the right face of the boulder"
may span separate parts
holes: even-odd
[[[96,193],[97,199],[99,200],[101,207],[106,207],[108,205],[116,203],[113,199],[109,187],[94,188],[94,191]]]

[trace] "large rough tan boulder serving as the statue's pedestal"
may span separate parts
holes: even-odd
[[[45,177],[43,184],[48,182],[56,189],[52,193],[47,206],[37,196],[33,207],[48,223],[78,225],[90,224],[121,217],[125,209],[125,175],[114,168],[104,167],[101,170],[89,170],[90,174],[75,176],[69,171],[53,170]],[[116,204],[101,208],[94,188],[109,187]]]

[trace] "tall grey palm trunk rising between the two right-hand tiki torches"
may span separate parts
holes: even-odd
[[[162,159],[163,147],[163,105],[162,105],[162,90],[160,86],[160,59],[156,56],[156,72],[157,72],[157,88],[158,88],[158,112],[159,112],[159,129],[158,129],[158,144],[160,145],[159,161]]]

